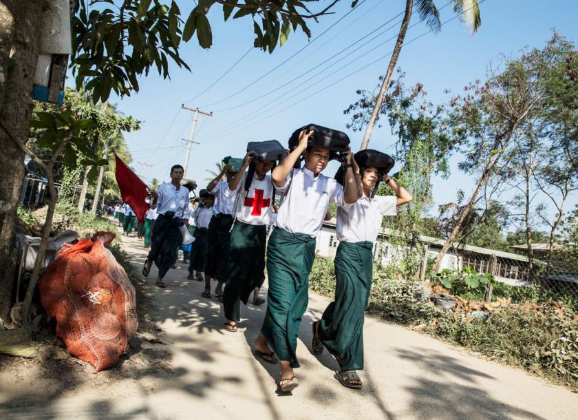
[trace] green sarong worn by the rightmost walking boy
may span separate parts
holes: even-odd
[[[363,319],[372,286],[373,244],[339,242],[335,255],[335,300],[319,323],[319,338],[341,370],[363,369]]]

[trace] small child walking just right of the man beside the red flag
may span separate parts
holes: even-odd
[[[208,224],[213,217],[214,197],[211,196],[206,189],[202,189],[199,191],[199,199],[198,207],[191,214],[195,222],[195,232],[193,233],[195,242],[191,244],[189,275],[186,278],[202,282],[203,277],[201,273],[204,273],[207,253],[206,235]],[[196,275],[193,275],[195,271]]]

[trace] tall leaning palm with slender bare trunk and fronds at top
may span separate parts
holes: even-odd
[[[440,23],[440,13],[438,12],[438,8],[436,8],[434,0],[416,0],[415,3],[416,10],[420,16],[420,21],[425,21],[426,25],[431,28],[431,30],[434,30],[434,32],[439,32],[442,24]],[[381,111],[385,93],[389,88],[389,83],[392,83],[392,74],[394,73],[401,48],[403,47],[405,32],[407,32],[413,8],[414,0],[406,0],[405,15],[399,28],[399,34],[396,41],[396,46],[394,48],[394,53],[392,54],[392,58],[389,60],[387,72],[383,78],[383,83],[381,83],[379,94],[376,97],[372,116],[369,123],[367,123],[367,129],[365,129],[365,135],[363,136],[363,141],[361,142],[361,150],[367,149],[367,146],[370,144],[370,138],[372,136],[375,123],[377,122],[379,112]],[[480,17],[480,5],[478,0],[453,0],[453,11],[459,13],[462,21],[471,26],[472,33],[480,28],[480,25],[482,24],[482,18]]]

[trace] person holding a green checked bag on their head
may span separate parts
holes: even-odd
[[[217,280],[215,297],[223,300],[223,284],[227,280],[228,249],[233,226],[233,204],[235,204],[235,196],[228,193],[228,182],[237,174],[238,169],[239,167],[235,168],[227,161],[221,173],[206,186],[206,190],[215,196],[215,202],[213,218],[208,224],[203,297],[211,297],[211,278],[214,278]],[[226,181],[221,180],[225,174]]]

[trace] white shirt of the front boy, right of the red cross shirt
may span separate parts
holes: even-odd
[[[277,227],[290,233],[317,236],[329,203],[345,203],[343,187],[336,180],[323,174],[313,176],[307,168],[292,169],[277,191],[285,194],[279,204]]]

